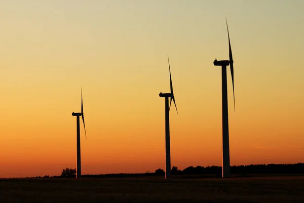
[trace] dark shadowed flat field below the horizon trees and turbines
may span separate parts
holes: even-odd
[[[304,176],[0,179],[0,202],[304,202]]]

